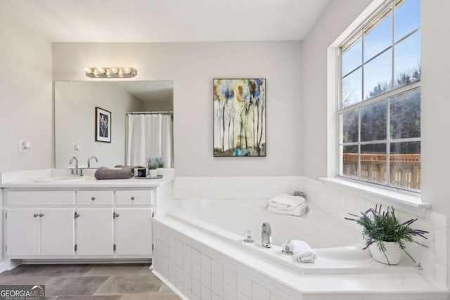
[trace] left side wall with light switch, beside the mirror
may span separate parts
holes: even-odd
[[[0,44],[0,171],[52,167],[51,43],[0,14]]]

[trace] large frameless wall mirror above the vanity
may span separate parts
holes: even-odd
[[[56,81],[55,167],[173,162],[173,81]]]

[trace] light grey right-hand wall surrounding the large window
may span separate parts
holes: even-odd
[[[310,178],[327,175],[327,48],[371,1],[330,1],[303,40],[303,174]],[[346,9],[342,9],[345,7]],[[450,103],[446,81],[450,78],[449,1],[422,1],[422,199],[433,211],[450,216],[450,190],[445,159],[450,148]],[[446,225],[448,226],[448,224]],[[448,227],[447,227],[448,228]],[[450,273],[449,232],[442,239]],[[442,256],[442,254],[441,254]],[[445,254],[444,254],[445,256]],[[446,282],[450,286],[448,275]]]

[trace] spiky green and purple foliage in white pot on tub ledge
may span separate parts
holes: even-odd
[[[405,242],[416,242],[414,240],[414,237],[416,236],[427,239],[425,234],[428,233],[428,231],[411,228],[411,224],[416,222],[417,219],[410,219],[404,223],[400,223],[397,216],[395,216],[394,207],[387,207],[387,210],[382,212],[381,205],[380,207],[375,205],[375,209],[370,208],[364,213],[361,212],[361,216],[356,214],[349,215],[354,218],[346,217],[344,219],[354,221],[363,226],[363,235],[364,238],[366,238],[366,247],[363,249],[367,249],[371,244],[376,243],[378,249],[385,254],[386,247],[384,242],[395,242],[412,261],[416,262],[411,254],[406,251]],[[428,247],[420,242],[416,243],[423,247]],[[389,262],[389,260],[387,261]]]

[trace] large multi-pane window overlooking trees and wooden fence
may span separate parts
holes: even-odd
[[[389,1],[340,46],[340,176],[420,190],[420,0]]]

